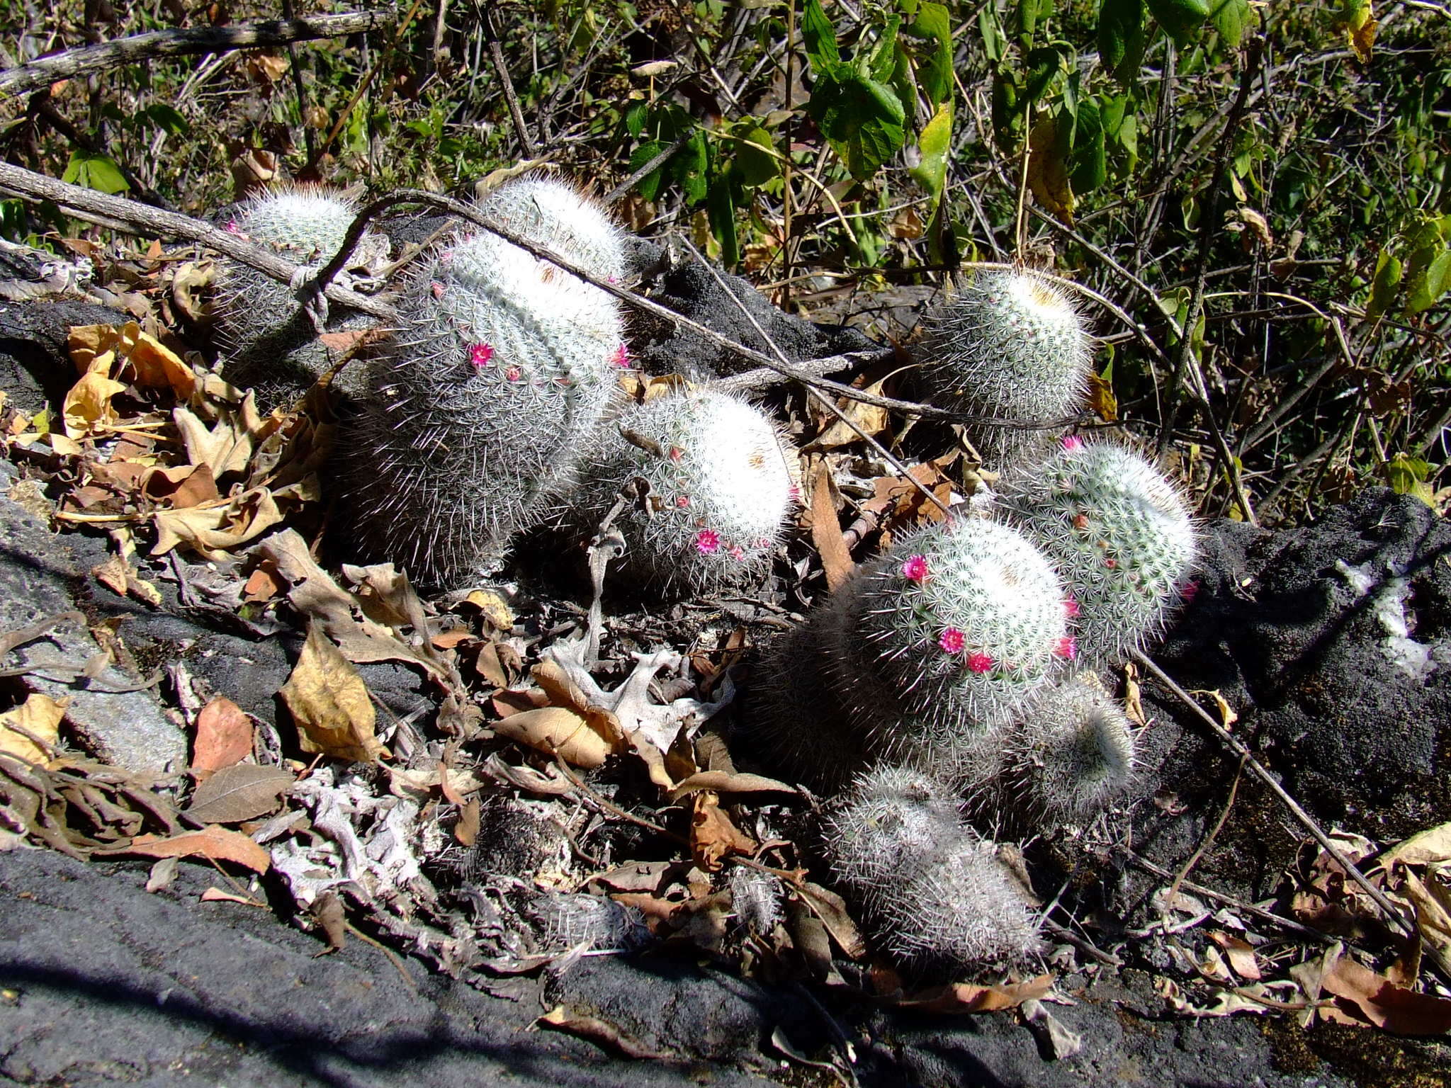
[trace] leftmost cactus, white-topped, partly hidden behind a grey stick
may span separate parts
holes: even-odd
[[[338,194],[293,189],[245,202],[225,229],[273,250],[311,276],[341,248],[355,215],[353,205]],[[367,232],[353,251],[351,267],[374,271],[387,255],[387,239]],[[222,260],[218,289],[218,339],[229,382],[264,392],[300,392],[335,361],[318,338],[312,318],[297,305],[293,287],[245,264]],[[358,331],[373,323],[364,313],[337,309],[328,315],[326,331]],[[338,387],[354,396],[363,390],[355,374],[350,368],[338,377]]]

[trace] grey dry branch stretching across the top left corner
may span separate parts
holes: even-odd
[[[138,33],[132,38],[89,45],[83,49],[70,49],[55,57],[42,57],[38,61],[0,71],[0,97],[25,94],[58,80],[104,71],[139,59],[342,38],[392,23],[392,12],[353,12],[318,15],[308,19],[267,19],[238,26]]]

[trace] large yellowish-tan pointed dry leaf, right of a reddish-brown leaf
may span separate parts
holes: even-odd
[[[367,685],[318,624],[308,625],[297,666],[281,686],[303,751],[371,763],[387,756]]]

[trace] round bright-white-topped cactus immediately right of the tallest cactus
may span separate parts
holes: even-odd
[[[649,493],[617,515],[621,567],[694,590],[759,577],[797,496],[795,451],[759,409],[708,389],[633,408],[591,457],[575,521],[586,531],[636,480]]]

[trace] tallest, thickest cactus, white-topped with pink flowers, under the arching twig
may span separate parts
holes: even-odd
[[[434,586],[496,569],[572,483],[618,392],[620,313],[496,235],[453,239],[412,280],[348,450],[357,528]]]

